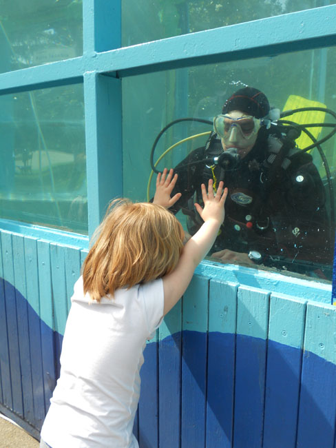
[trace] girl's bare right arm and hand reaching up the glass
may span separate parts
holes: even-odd
[[[224,203],[227,198],[227,188],[223,192],[223,182],[218,185],[216,196],[213,196],[213,181],[209,180],[208,192],[202,184],[204,209],[195,204],[196,210],[204,221],[200,230],[194,234],[182,250],[180,261],[174,269],[163,277],[165,305],[163,314],[167,314],[182,297],[187,289],[196,266],[207,255],[216,240],[218,230],[224,221]]]

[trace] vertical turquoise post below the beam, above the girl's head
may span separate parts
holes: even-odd
[[[120,79],[86,72],[84,99],[87,203],[91,237],[101,222],[109,201],[123,196]]]

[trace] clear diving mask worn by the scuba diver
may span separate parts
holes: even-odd
[[[224,140],[224,144],[236,143],[240,147],[251,145],[263,124],[262,119],[251,115],[237,119],[229,115],[218,115],[213,119],[213,129]]]

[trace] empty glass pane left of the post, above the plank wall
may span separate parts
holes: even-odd
[[[83,85],[0,96],[0,217],[87,234]]]

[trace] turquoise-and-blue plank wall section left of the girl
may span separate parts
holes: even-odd
[[[0,232],[0,411],[34,436],[59,375],[82,252]]]

